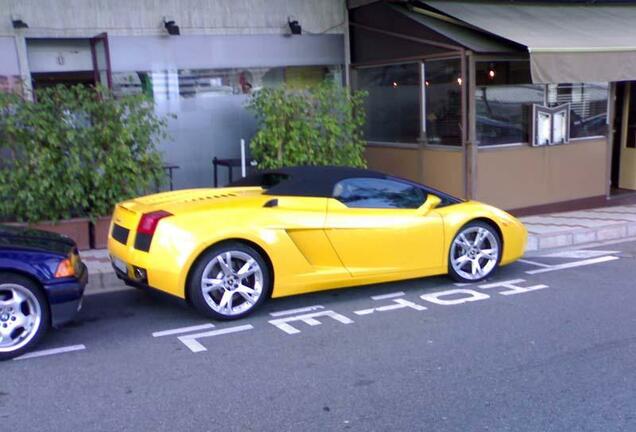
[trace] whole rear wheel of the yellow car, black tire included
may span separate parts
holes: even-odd
[[[246,244],[229,242],[213,247],[197,260],[188,298],[205,316],[236,320],[256,310],[269,296],[271,285],[270,270],[261,254]]]

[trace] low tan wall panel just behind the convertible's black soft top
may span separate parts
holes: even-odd
[[[457,197],[464,196],[463,152],[368,146],[369,168],[408,178]]]

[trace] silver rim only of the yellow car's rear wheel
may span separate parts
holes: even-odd
[[[263,294],[263,270],[258,261],[245,252],[222,252],[205,266],[201,291],[215,312],[224,316],[242,314]]]

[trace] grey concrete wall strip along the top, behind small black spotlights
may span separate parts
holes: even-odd
[[[289,33],[287,17],[307,33],[342,33],[344,0],[0,0],[0,35],[13,34],[11,16],[27,37],[162,35],[163,17],[188,34]]]

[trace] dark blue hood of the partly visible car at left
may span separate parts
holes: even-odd
[[[0,249],[29,249],[67,255],[75,242],[63,235],[0,224]]]

